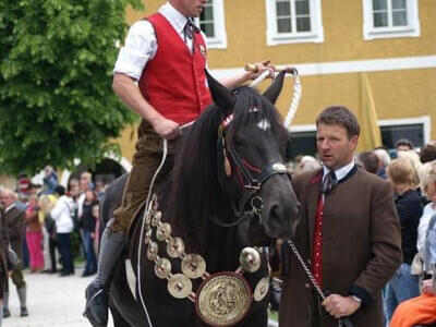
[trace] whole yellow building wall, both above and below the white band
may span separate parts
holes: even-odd
[[[272,1],[272,0],[270,0]],[[132,24],[155,12],[165,0],[144,1],[145,12],[126,10]],[[265,0],[225,0],[227,49],[209,49],[208,64],[214,69],[242,68],[246,62],[270,59],[275,64],[318,63],[400,57],[434,56],[436,53],[436,1],[419,1],[420,37],[363,39],[361,0],[322,1],[324,43],[267,46]],[[400,119],[429,116],[431,138],[436,140],[436,69],[368,72],[378,119]],[[301,77],[303,97],[294,124],[313,124],[322,109],[344,105],[356,111],[360,105],[358,73],[310,75]],[[264,83],[261,88],[265,88]],[[282,113],[292,99],[292,80],[287,78],[278,100]],[[130,133],[121,138],[123,154],[130,159],[133,141]]]

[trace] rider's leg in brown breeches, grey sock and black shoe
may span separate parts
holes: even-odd
[[[113,213],[113,219],[105,229],[101,238],[96,278],[86,289],[85,315],[95,327],[107,326],[108,296],[106,289],[109,286],[113,267],[124,249],[124,235],[129,230],[130,222],[146,199],[149,184],[160,160],[161,138],[153,132],[140,136],[121,206]]]

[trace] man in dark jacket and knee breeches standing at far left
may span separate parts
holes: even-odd
[[[11,247],[17,254],[20,262],[22,261],[22,245],[25,229],[25,213],[20,210],[15,206],[16,194],[10,190],[4,189],[0,194],[1,205],[4,207],[4,219],[8,226],[8,234]],[[28,316],[26,306],[26,282],[24,280],[21,263],[12,270],[12,281],[16,287],[16,292],[19,293],[20,315],[22,317]],[[9,311],[9,288],[4,292],[4,303],[3,303],[3,317],[9,317],[11,315]]]

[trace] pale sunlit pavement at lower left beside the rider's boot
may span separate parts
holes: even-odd
[[[82,278],[81,274],[80,268],[74,276],[68,277],[25,272],[29,316],[23,318],[20,317],[15,286],[10,281],[11,317],[3,320],[3,327],[90,327],[82,312],[85,306],[85,288],[92,277]]]

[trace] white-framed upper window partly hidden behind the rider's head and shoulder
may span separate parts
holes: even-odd
[[[207,47],[209,49],[227,48],[222,1],[208,0],[196,22],[207,37]]]

